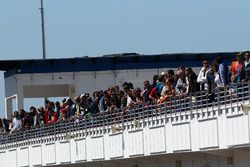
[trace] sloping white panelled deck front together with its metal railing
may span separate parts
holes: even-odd
[[[250,84],[246,83],[233,91],[218,90],[214,101],[198,94],[195,98],[175,97],[161,106],[138,106],[128,113],[97,115],[5,136],[0,145],[1,167],[88,162],[98,166],[104,161],[130,162],[139,157],[189,153],[233,157],[234,164],[242,166],[243,155],[237,150],[248,152],[250,146],[249,90]],[[190,162],[196,164],[195,158],[190,156]],[[182,159],[173,158],[176,164]],[[126,165],[133,166],[118,166]]]

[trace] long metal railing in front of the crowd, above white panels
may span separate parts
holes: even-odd
[[[121,129],[164,124],[172,121],[183,121],[216,115],[221,108],[233,108],[239,112],[241,103],[250,102],[250,82],[234,84],[216,90],[213,94],[197,92],[193,95],[171,97],[160,105],[137,105],[128,112],[117,111],[109,114],[97,114],[89,119],[77,122],[60,122],[45,125],[41,128],[20,130],[0,138],[0,146],[23,142],[24,144],[41,143],[65,139],[65,134],[74,133],[74,137],[105,134],[111,126]],[[232,110],[232,112],[234,112]],[[227,113],[226,113],[227,114]]]

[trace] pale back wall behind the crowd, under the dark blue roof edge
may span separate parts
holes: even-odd
[[[194,68],[198,71],[199,68]],[[71,85],[76,94],[93,93],[96,90],[107,89],[110,85],[121,86],[123,82],[132,82],[135,87],[143,87],[143,81],[152,82],[153,75],[160,74],[167,69],[145,69],[145,70],[117,70],[98,72],[74,72],[74,73],[43,73],[43,74],[16,74],[5,78],[6,97],[20,94],[24,98],[30,93],[24,92],[26,86],[53,86]],[[176,70],[176,69],[174,69]],[[26,89],[25,91],[29,91]],[[42,95],[44,95],[44,92]],[[59,93],[59,92],[58,92]],[[42,97],[41,95],[41,97]],[[48,91],[48,97],[51,95]],[[57,93],[55,92],[55,97]],[[28,96],[31,97],[31,96]],[[37,97],[37,95],[35,95]]]

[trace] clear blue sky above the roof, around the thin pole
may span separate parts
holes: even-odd
[[[42,58],[39,7],[0,0],[0,60]],[[250,50],[249,0],[44,0],[44,8],[47,58]]]

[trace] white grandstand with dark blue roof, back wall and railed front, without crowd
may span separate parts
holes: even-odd
[[[93,92],[185,65],[197,71],[203,59],[235,53],[82,57],[0,61],[5,71],[6,117],[13,99],[60,97]],[[124,114],[97,115],[78,123],[20,131],[0,140],[0,166],[248,167],[250,164],[250,83],[234,91],[173,98],[138,106]]]

